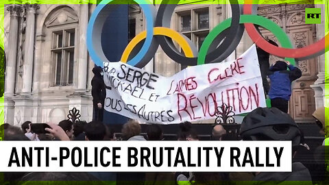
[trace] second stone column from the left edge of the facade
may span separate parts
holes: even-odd
[[[27,4],[25,5],[25,8],[27,15],[22,94],[29,95],[32,90],[36,10],[39,8],[39,6],[36,4]]]

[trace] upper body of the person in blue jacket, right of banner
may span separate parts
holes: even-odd
[[[276,62],[269,68],[269,79],[271,88],[269,88],[269,98],[282,98],[289,101],[291,97],[291,82],[302,76],[302,71],[293,65],[288,66],[283,61]]]

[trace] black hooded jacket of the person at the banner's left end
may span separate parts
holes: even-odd
[[[91,80],[91,95],[93,96],[93,104],[97,108],[97,103],[101,103],[104,106],[104,100],[106,97],[106,88],[104,84],[103,76],[101,72],[103,70],[96,66],[93,68],[93,73],[95,74]]]

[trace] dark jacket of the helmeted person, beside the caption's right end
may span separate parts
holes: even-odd
[[[310,172],[300,162],[293,162],[292,172],[262,172],[254,177],[257,184],[291,184],[289,181],[298,181],[300,184],[312,184]],[[286,182],[287,181],[287,182]]]

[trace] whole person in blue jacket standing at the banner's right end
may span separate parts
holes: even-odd
[[[291,65],[288,61],[279,60],[269,68],[268,76],[271,80],[271,86],[269,88],[271,106],[287,113],[288,102],[291,97],[291,82],[300,78],[302,71],[296,66]]]

